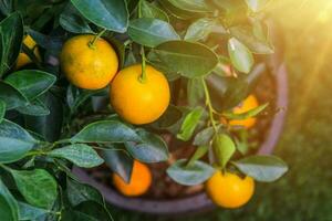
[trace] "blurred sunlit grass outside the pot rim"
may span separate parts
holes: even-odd
[[[290,166],[274,183],[258,185],[239,210],[175,220],[332,220],[332,3],[280,0],[270,9],[282,28],[289,71],[290,106],[276,154]],[[166,220],[113,210],[115,220]]]

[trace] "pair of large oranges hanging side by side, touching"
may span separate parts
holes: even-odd
[[[70,39],[60,59],[62,71],[77,87],[100,90],[111,84],[111,104],[131,124],[156,120],[169,104],[169,86],[163,73],[149,65],[142,69],[141,64],[118,72],[115,50],[101,38],[87,34]]]

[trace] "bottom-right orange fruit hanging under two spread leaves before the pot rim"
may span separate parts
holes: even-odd
[[[255,181],[251,177],[242,179],[236,173],[217,171],[208,179],[205,189],[217,206],[235,209],[251,199]]]

